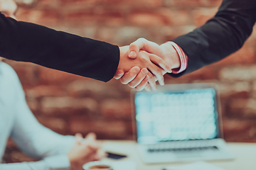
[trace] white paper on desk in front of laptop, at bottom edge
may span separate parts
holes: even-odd
[[[186,164],[182,166],[167,166],[166,170],[225,170],[220,167],[208,164],[206,162],[195,162],[193,164]]]

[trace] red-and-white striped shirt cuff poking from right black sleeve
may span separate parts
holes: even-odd
[[[175,42],[169,41],[169,43],[174,47],[176,52],[178,52],[178,57],[181,61],[181,67],[172,69],[172,73],[178,74],[180,72],[183,72],[188,67],[188,56],[183,52],[181,47],[179,47]]]

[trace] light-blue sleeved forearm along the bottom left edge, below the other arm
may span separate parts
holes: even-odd
[[[70,170],[70,162],[65,155],[48,157],[38,162],[21,162],[11,164],[0,164],[1,170]]]

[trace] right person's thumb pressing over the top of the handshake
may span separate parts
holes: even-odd
[[[136,58],[139,50],[145,50],[146,52],[150,52],[152,54],[161,56],[161,48],[155,42],[151,42],[146,40],[145,38],[139,38],[138,40],[132,42],[129,45],[129,58]]]

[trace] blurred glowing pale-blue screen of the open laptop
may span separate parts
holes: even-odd
[[[213,88],[136,92],[137,142],[154,144],[216,138],[216,103]]]

